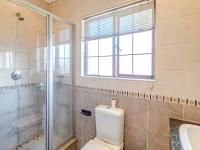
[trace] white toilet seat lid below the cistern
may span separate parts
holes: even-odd
[[[97,138],[90,140],[81,150],[122,150],[121,146],[114,146]]]

